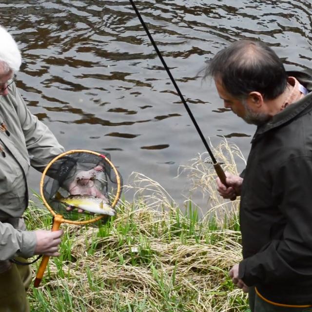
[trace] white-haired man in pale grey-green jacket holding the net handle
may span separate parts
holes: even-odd
[[[31,281],[30,267],[17,265],[14,259],[58,256],[62,230],[26,231],[22,218],[28,206],[26,177],[30,165],[42,172],[64,149],[20,96],[14,82],[20,51],[1,26],[0,42],[0,312],[28,312],[25,289]]]

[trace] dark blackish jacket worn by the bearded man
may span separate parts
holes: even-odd
[[[311,73],[289,73],[309,91]],[[239,278],[267,299],[312,304],[312,92],[257,128],[244,175]]]

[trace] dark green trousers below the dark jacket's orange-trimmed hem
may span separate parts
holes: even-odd
[[[252,312],[312,312],[312,308],[287,308],[270,304],[256,294],[254,287],[249,288],[248,297]]]

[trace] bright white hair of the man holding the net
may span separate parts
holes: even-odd
[[[21,64],[20,50],[5,28],[0,26],[0,67],[4,72],[19,71]]]

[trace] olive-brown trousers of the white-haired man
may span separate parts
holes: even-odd
[[[0,273],[0,312],[30,312],[26,290],[31,279],[28,265],[12,264],[9,270]]]

